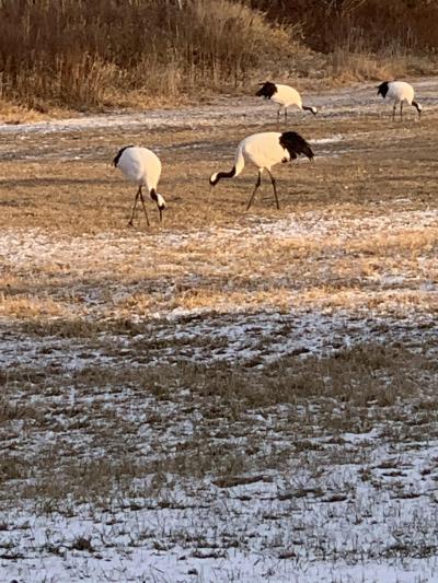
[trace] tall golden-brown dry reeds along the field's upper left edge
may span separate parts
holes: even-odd
[[[278,54],[290,31],[230,0],[0,1],[0,96],[36,109],[235,86]]]

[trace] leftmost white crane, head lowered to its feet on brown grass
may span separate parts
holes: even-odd
[[[149,196],[157,203],[160,213],[160,221],[162,220],[162,211],[165,209],[164,198],[157,193],[158,182],[161,176],[161,162],[157,154],[148,148],[140,148],[136,145],[127,145],[119,150],[113,161],[114,166],[119,168],[125,177],[138,185],[136,198],[132,207],[132,213],[128,222],[129,226],[134,226],[134,215],[137,202],[140,199],[146,221],[149,226],[149,218],[146,211],[145,198],[142,187],[146,186]]]

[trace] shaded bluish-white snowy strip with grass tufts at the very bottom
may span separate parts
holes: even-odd
[[[359,439],[367,451],[376,435],[354,435],[355,447]],[[437,442],[423,451],[387,444],[370,458],[369,481],[347,462],[321,483],[299,468],[290,483],[266,475],[195,491],[182,482],[159,502],[140,497],[106,511],[83,504],[76,516],[69,516],[68,501],[65,514],[37,515],[24,504],[2,514],[0,574],[33,583],[434,582],[437,475],[424,470],[437,456]],[[405,547],[412,548],[408,559]]]

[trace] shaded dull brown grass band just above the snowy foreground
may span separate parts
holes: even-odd
[[[141,350],[138,345],[137,354]],[[145,476],[151,479],[141,492],[143,503],[159,497],[171,476],[219,477],[223,483],[245,473],[263,476],[290,457],[302,454],[304,459],[307,452],[316,451],[315,438],[334,440],[343,432],[361,433],[388,423],[387,439],[392,439],[390,422],[399,428],[414,418],[433,423],[436,396],[428,372],[436,374],[437,366],[425,354],[372,343],[324,358],[288,355],[263,369],[181,361],[177,368],[92,365],[73,374],[58,368],[47,377],[18,368],[3,385],[2,421],[13,428],[20,420],[38,435],[49,419],[57,447],[48,442],[38,452],[9,455],[0,466],[0,480],[22,480],[21,497],[49,504],[38,512],[50,512],[66,497],[105,508],[115,493],[131,495],[136,479]],[[74,405],[67,397],[71,384]],[[9,405],[18,395],[19,405]],[[427,395],[431,400],[426,401]],[[277,454],[266,453],[266,434],[253,425],[254,413],[275,418],[275,435],[287,438]],[[178,424],[187,419],[197,419],[194,433],[178,435]],[[145,427],[153,452],[146,457],[139,455]],[[407,431],[412,440],[413,430]],[[235,438],[244,438],[244,451],[232,445]],[[56,485],[48,467],[57,467]],[[33,479],[24,483],[28,477]]]

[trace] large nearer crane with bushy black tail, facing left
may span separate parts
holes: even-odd
[[[286,131],[284,133],[278,131],[253,133],[239,143],[235,152],[234,165],[231,171],[215,172],[211,174],[210,185],[217,185],[221,178],[239,176],[243,171],[245,163],[254,164],[254,166],[258,168],[258,176],[253,194],[247,202],[246,210],[251,207],[255,193],[262,184],[262,173],[264,170],[270,177],[275,202],[277,209],[279,209],[276,183],[270,173],[270,168],[280,162],[295,160],[299,154],[306,155],[309,160],[312,160],[314,155],[309,143],[295,131]]]

